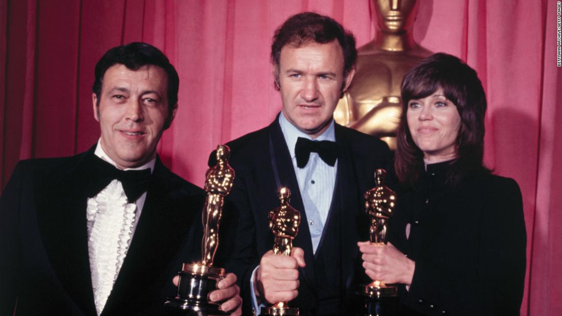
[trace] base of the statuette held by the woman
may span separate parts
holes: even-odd
[[[366,316],[395,315],[398,304],[398,287],[373,281],[361,286],[359,294],[365,297]]]

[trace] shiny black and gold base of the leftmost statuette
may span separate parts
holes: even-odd
[[[184,314],[230,315],[219,309],[220,303],[208,299],[209,293],[216,290],[216,283],[224,278],[223,268],[184,263],[178,274],[178,293],[175,297],[166,297],[166,309]]]

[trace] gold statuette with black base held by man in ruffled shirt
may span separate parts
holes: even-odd
[[[209,301],[207,296],[216,289],[216,283],[225,276],[223,268],[213,266],[219,245],[219,222],[223,213],[224,197],[232,189],[234,170],[228,164],[230,148],[219,145],[216,149],[216,166],[206,172],[205,191],[207,199],[203,207],[203,239],[201,262],[184,263],[179,274],[178,292],[167,297],[164,305],[169,309],[198,312],[206,315],[229,315],[219,310],[219,303]]]

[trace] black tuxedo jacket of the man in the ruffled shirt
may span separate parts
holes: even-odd
[[[0,198],[0,314],[96,315],[88,152],[17,164]],[[203,190],[156,159],[142,215],[102,315],[160,315],[182,262],[199,259]]]

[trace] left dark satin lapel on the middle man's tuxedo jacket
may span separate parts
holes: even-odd
[[[303,277],[311,288],[316,288],[316,276],[314,272],[314,254],[312,253],[312,239],[310,237],[310,231],[307,219],[305,207],[302,202],[301,191],[298,187],[297,176],[294,172],[293,162],[291,160],[291,154],[289,154],[289,149],[287,148],[287,143],[283,137],[283,132],[281,131],[281,126],[279,125],[279,116],[270,125],[270,144],[273,145],[273,155],[270,157],[272,159],[272,164],[277,167],[279,182],[281,186],[286,186],[291,190],[291,201],[292,207],[296,208],[301,212],[301,223],[298,226],[297,236],[293,240],[293,246],[300,247],[305,251],[305,263],[306,267],[301,269]],[[275,161],[275,163],[273,163]],[[275,196],[277,199],[277,196]]]

